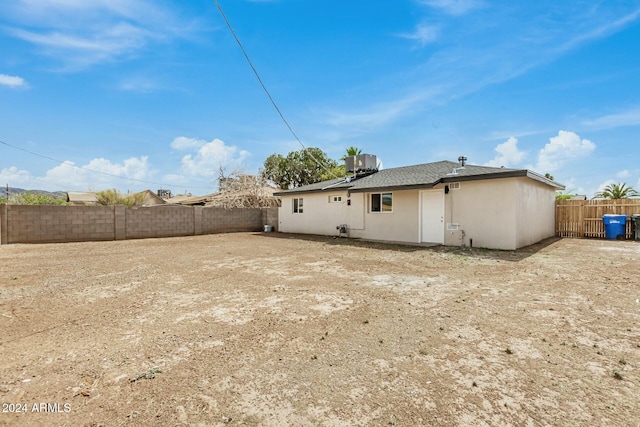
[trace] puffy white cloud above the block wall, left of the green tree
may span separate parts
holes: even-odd
[[[215,176],[220,166],[231,169],[242,165],[250,153],[232,145],[226,145],[220,139],[205,141],[203,139],[178,137],[171,142],[177,150],[192,150],[193,154],[182,157],[181,170],[190,176]]]

